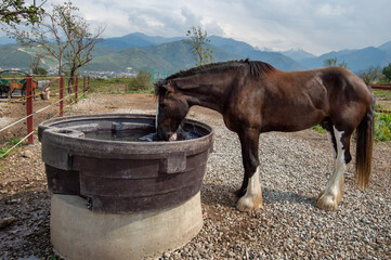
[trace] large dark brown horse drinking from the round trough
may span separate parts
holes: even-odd
[[[321,125],[333,144],[335,169],[316,206],[337,209],[343,174],[351,161],[350,141],[356,131],[356,179],[369,184],[374,142],[375,98],[361,78],[342,67],[283,72],[257,61],[214,63],[173,74],[155,83],[159,140],[174,141],[188,109],[198,105],[219,112],[238,134],[244,179],[235,192],[236,208],[262,208],[259,136],[270,131],[300,131]]]

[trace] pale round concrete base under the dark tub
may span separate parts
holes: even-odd
[[[165,210],[129,214],[95,213],[79,196],[52,196],[51,240],[65,259],[140,259],[177,249],[203,227],[199,192]]]

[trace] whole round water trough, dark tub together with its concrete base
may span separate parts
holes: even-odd
[[[54,250],[68,259],[138,259],[186,244],[203,226],[199,191],[212,129],[194,139],[141,142],[155,116],[61,117],[39,126]]]

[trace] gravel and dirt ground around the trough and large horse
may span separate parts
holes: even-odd
[[[153,102],[123,102],[125,106],[107,105],[95,95],[73,110],[101,113],[92,107],[105,104],[104,113],[127,113],[129,107],[132,113],[154,113]],[[161,259],[391,259],[390,145],[375,146],[369,188],[355,187],[354,164],[350,164],[338,210],[324,211],[316,208],[316,198],[333,171],[326,135],[312,130],[262,134],[263,209],[239,212],[233,194],[243,179],[236,134],[210,110],[197,108],[188,117],[214,129],[214,152],[201,188],[204,227]],[[0,230],[0,259],[51,258],[50,194],[40,144],[25,146],[0,162],[0,219],[11,218]]]

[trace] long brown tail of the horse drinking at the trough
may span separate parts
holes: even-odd
[[[365,114],[356,129],[355,171],[359,187],[366,188],[369,184],[370,164],[375,132],[375,99],[370,109]]]

